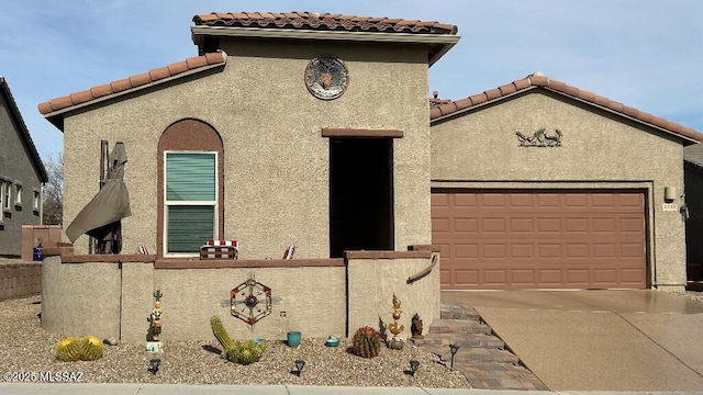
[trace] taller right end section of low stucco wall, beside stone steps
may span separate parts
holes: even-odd
[[[393,323],[393,293],[401,301],[400,337],[411,337],[411,319],[415,313],[423,320],[425,334],[433,320],[439,318],[438,266],[426,276],[406,283],[408,278],[427,268],[431,260],[349,259],[349,336],[364,326],[380,330],[380,323]],[[437,263],[439,264],[439,262]],[[388,337],[393,335],[387,332]]]

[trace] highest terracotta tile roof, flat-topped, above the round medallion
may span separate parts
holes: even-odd
[[[455,25],[439,22],[342,15],[315,12],[213,12],[193,16],[196,25],[228,27],[297,29],[317,31],[457,34]]]

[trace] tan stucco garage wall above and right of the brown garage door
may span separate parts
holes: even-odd
[[[562,146],[520,147],[515,132],[532,136],[543,127],[561,131]],[[432,126],[433,188],[646,190],[649,272],[657,286],[685,284],[683,222],[661,206],[665,187],[683,191],[682,160],[680,140],[534,91]]]

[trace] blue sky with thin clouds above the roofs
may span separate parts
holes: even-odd
[[[461,99],[540,70],[703,132],[700,0],[3,1],[0,76],[42,158],[63,149],[63,134],[38,103],[196,56],[192,16],[214,11],[456,24],[461,41],[429,69],[428,95]]]

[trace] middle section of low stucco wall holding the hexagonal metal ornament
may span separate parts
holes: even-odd
[[[230,291],[245,282],[249,273],[269,286],[272,295],[271,314],[252,329],[230,313]],[[299,330],[303,337],[345,336],[343,267],[157,269],[154,281],[165,293],[160,336],[164,340],[213,339],[210,327],[213,315],[222,318],[233,339],[286,339],[289,330]],[[284,312],[284,317],[281,312]]]

